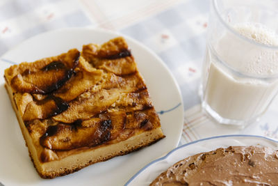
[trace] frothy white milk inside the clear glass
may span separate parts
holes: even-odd
[[[278,45],[275,32],[261,24],[238,24],[234,29],[259,45]],[[205,62],[203,100],[222,118],[237,121],[256,118],[277,93],[276,80],[252,77],[277,75],[278,51],[258,47],[227,32],[208,46]]]

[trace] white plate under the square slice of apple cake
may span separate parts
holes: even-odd
[[[136,40],[126,38],[149,88],[154,107],[161,114],[166,135],[147,148],[93,164],[76,173],[52,180],[38,176],[28,157],[28,150],[8,94],[3,86],[3,71],[11,63],[35,61],[47,56],[81,49],[83,44],[101,44],[117,33],[95,29],[62,29],[30,38],[1,56],[0,70],[0,183],[4,185],[124,185],[143,166],[177,147],[183,126],[183,102],[177,82],[163,61]]]

